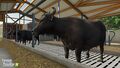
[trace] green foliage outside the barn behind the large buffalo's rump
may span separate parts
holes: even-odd
[[[102,18],[107,29],[119,29],[120,28],[120,16],[111,16]]]

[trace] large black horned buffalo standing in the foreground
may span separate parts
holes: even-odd
[[[101,21],[89,21],[80,18],[57,18],[55,8],[52,13],[43,14],[40,23],[34,28],[33,34],[53,34],[61,38],[64,44],[65,58],[69,49],[75,50],[76,59],[81,60],[81,51],[89,51],[100,46],[101,61],[103,61],[106,28]],[[89,54],[88,54],[89,55]]]

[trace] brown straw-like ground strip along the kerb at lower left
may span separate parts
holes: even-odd
[[[0,39],[0,48],[6,48],[18,68],[67,68],[5,39]]]

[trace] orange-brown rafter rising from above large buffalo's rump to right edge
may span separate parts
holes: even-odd
[[[96,17],[102,16],[102,15],[108,13],[108,12],[111,12],[111,11],[114,11],[114,10],[119,9],[119,7],[120,7],[119,4],[114,5],[114,6],[110,7],[110,8],[108,8],[108,9],[106,9],[105,11],[102,11],[102,12],[100,12],[100,13],[94,15],[94,16],[91,16],[90,18],[91,18],[91,19],[94,19],[94,18],[96,18]]]

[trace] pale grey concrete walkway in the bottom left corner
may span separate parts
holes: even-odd
[[[0,68],[14,68],[12,66],[12,59],[7,50],[0,48]]]

